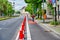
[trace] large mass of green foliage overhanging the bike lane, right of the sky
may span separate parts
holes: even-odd
[[[25,0],[25,2],[28,4],[26,9],[25,9],[26,11],[28,11],[30,14],[37,13],[38,17],[41,16],[41,18],[42,18],[41,5],[42,5],[43,0]],[[46,0],[44,0],[44,2],[46,2]],[[37,12],[37,9],[39,9],[38,12]]]

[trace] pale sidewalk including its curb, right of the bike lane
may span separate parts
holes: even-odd
[[[48,20],[46,20],[48,21]],[[50,20],[51,21],[51,20]],[[59,35],[60,36],[60,25],[57,25],[57,26],[54,26],[54,25],[50,25],[49,23],[43,23],[42,20],[36,20],[36,22],[43,26],[44,28],[50,30],[50,31],[53,31],[55,34]]]

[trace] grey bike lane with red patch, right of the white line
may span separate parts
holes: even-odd
[[[60,40],[50,32],[46,32],[36,22],[32,22],[30,18],[28,20],[32,40]]]

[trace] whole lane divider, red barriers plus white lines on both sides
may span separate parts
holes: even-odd
[[[25,28],[26,28],[26,31],[27,31],[27,39],[26,40],[31,40],[31,34],[30,34],[29,26],[28,26],[27,16],[24,17],[24,20],[22,22],[22,25],[20,27],[20,30],[19,30],[18,35],[16,37],[16,40],[24,40]]]

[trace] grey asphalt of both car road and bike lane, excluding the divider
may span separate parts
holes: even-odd
[[[15,40],[24,16],[0,21],[0,40]],[[31,40],[60,40],[28,17]]]

